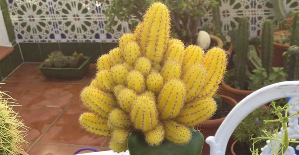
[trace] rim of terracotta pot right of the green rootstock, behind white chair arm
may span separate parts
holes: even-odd
[[[236,100],[234,100],[231,97],[225,96],[225,95],[219,95],[219,97],[221,97],[221,100],[226,101],[226,103],[228,105],[230,105],[231,107],[234,107],[238,104],[238,102]],[[214,120],[207,120],[202,122],[199,126],[200,128],[211,128],[211,127],[217,127],[220,126],[221,123],[224,121],[226,117],[222,117],[222,118],[218,118],[218,119],[214,119]]]

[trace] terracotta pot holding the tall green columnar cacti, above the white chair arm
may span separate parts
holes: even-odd
[[[232,97],[233,99],[235,99],[238,102],[241,101],[243,98],[245,98],[247,95],[254,92],[252,90],[235,89],[235,88],[227,85],[224,81],[222,81],[221,84],[222,84],[222,90],[220,91],[220,94]]]

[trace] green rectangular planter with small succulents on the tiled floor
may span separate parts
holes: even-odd
[[[39,69],[47,78],[83,78],[89,70],[90,59],[77,52],[65,56],[61,51],[53,51]]]

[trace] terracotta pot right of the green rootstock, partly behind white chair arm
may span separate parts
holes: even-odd
[[[232,107],[238,104],[236,100],[234,100],[231,97],[224,96],[224,95],[218,95],[221,97],[221,100],[225,103],[228,104]],[[208,136],[214,136],[217,129],[221,125],[221,123],[224,121],[225,117],[219,118],[219,119],[214,119],[214,120],[207,120],[201,123],[200,125],[196,126],[200,130],[200,132],[204,135],[204,138]],[[229,141],[228,145],[232,144],[232,140]],[[229,151],[229,150],[228,150]],[[210,147],[209,145],[204,142],[204,146],[202,149],[202,154],[210,154]]]

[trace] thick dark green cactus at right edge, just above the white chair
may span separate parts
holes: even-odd
[[[288,74],[287,80],[298,80],[299,78],[299,47],[294,45],[284,52],[284,70]]]

